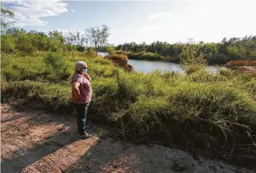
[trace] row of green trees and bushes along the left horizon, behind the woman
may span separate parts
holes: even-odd
[[[109,29],[106,25],[90,27],[85,33],[49,31],[25,31],[25,29],[8,28],[1,33],[1,51],[12,53],[39,51],[72,51],[83,52],[86,48],[98,50],[99,46],[107,44]]]

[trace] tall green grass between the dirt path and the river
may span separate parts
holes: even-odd
[[[249,74],[142,74],[107,59],[66,53],[61,58],[68,78],[57,81],[61,74],[45,62],[48,55],[2,54],[2,101],[21,97],[32,108],[73,112],[73,68],[86,61],[93,91],[88,118],[112,125],[124,138],[222,151],[250,148],[256,140],[256,79]]]

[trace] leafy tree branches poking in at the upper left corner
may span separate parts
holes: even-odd
[[[3,7],[3,3],[1,3],[1,29],[6,29],[14,23],[14,21],[8,20],[8,18],[12,17],[14,17],[14,12]]]

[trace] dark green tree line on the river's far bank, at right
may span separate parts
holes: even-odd
[[[190,40],[191,41],[191,40]],[[189,42],[190,42],[189,41]],[[219,43],[196,43],[200,52],[203,52],[208,63],[223,64],[231,60],[256,60],[256,36],[246,36],[243,38],[224,38]],[[135,42],[119,44],[116,50],[128,52],[152,52],[159,54],[169,61],[180,61],[184,43],[169,44],[167,42],[153,42],[151,44],[136,44]]]

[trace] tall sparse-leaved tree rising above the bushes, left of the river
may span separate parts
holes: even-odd
[[[107,44],[107,38],[110,36],[110,29],[107,25],[102,25],[101,29],[99,27],[89,27],[86,29],[86,42],[92,46],[96,55],[98,55],[99,46],[104,46]]]

